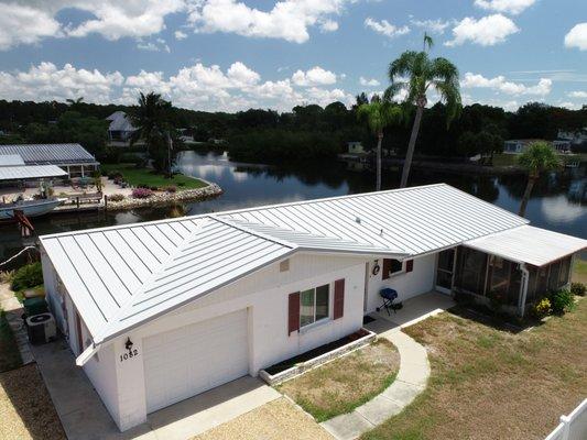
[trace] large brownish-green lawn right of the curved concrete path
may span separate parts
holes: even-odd
[[[450,312],[405,332],[428,349],[428,387],[363,440],[542,440],[585,398],[586,299],[517,334]]]

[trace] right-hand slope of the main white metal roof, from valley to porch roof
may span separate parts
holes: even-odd
[[[410,255],[528,223],[445,184],[241,209],[218,217]]]

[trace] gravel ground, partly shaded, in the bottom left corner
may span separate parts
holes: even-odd
[[[65,439],[35,364],[0,373],[0,439]]]

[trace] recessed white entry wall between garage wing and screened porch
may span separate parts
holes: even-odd
[[[369,264],[369,292],[367,299],[367,312],[372,312],[381,306],[382,299],[379,290],[391,287],[398,292],[398,301],[404,301],[416,295],[425,294],[434,288],[436,278],[437,254],[428,254],[414,258],[414,270],[410,273],[400,273],[388,279],[382,279],[383,271],[373,275],[373,262]],[[383,261],[379,260],[379,265],[383,266]],[[405,267],[405,263],[404,263]]]

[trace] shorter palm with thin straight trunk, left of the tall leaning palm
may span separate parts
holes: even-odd
[[[381,190],[381,143],[383,129],[390,124],[400,123],[403,119],[402,108],[389,100],[381,100],[377,95],[370,103],[361,103],[357,117],[367,120],[367,124],[377,135],[377,185],[376,190]]]

